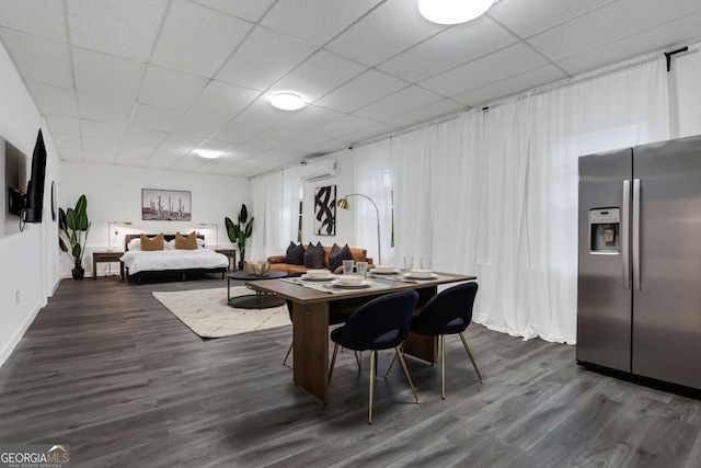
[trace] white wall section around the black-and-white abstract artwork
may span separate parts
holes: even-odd
[[[335,236],[315,236],[314,235],[314,189],[335,185],[336,199],[353,193],[353,151],[344,149],[332,152],[323,157],[323,159],[335,159],[338,162],[338,175],[335,178],[324,179],[318,182],[306,182],[303,194],[304,213],[302,217],[302,242],[321,242],[324,247],[331,247],[335,243],[343,247],[347,243],[349,247],[361,247],[355,244],[355,216],[349,209],[341,209],[336,207],[336,235]]]

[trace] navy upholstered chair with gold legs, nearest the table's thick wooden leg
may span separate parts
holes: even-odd
[[[409,375],[400,346],[409,335],[412,315],[418,301],[415,290],[404,290],[377,297],[360,306],[348,317],[346,323],[331,332],[331,340],[335,343],[333,358],[329,369],[329,381],[333,375],[338,346],[353,351],[370,351],[370,396],[368,423],[372,423],[372,397],[375,392],[375,374],[378,350],[394,349],[394,356],[399,356],[402,369],[418,403],[416,389]]]

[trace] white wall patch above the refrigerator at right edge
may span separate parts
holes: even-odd
[[[671,59],[669,107],[671,138],[701,135],[701,43]]]

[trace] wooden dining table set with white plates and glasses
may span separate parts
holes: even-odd
[[[414,313],[436,295],[439,285],[476,279],[474,275],[436,273],[432,281],[399,281],[388,277],[368,277],[369,281],[387,285],[382,289],[353,289],[343,293],[326,293],[290,283],[285,279],[246,281],[246,286],[275,294],[292,303],[294,381],[307,389],[324,403],[329,402],[329,317],[347,313],[371,300],[399,290],[415,289],[418,304]],[[429,363],[437,358],[437,339],[410,333],[404,342],[406,354]]]

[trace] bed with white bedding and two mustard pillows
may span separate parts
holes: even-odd
[[[166,247],[163,250],[145,252],[140,250],[139,239],[140,235],[126,235],[125,252],[119,259],[124,263],[127,277],[138,281],[139,284],[141,278],[148,276],[179,276],[185,281],[187,276],[202,276],[205,273],[221,273],[223,279],[223,274],[229,269],[229,258],[205,248],[203,235],[197,235],[196,250]],[[174,239],[175,235],[163,235],[165,243],[172,244]]]

